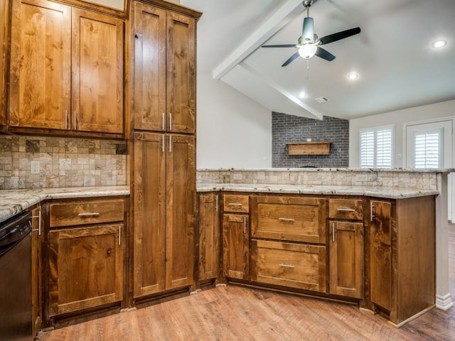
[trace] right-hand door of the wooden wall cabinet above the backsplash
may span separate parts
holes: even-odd
[[[123,41],[121,19],[73,9],[74,130],[124,132]]]

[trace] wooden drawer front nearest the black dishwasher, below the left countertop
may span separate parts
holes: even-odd
[[[50,227],[121,222],[124,220],[124,200],[50,204],[49,210]]]

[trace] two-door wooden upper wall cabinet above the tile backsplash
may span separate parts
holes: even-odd
[[[46,0],[14,0],[12,131],[124,134],[124,21]]]

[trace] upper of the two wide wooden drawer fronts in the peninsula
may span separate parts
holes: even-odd
[[[253,197],[252,237],[326,244],[326,200]]]

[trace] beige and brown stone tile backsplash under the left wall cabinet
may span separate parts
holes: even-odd
[[[0,190],[126,184],[126,141],[0,136]]]

